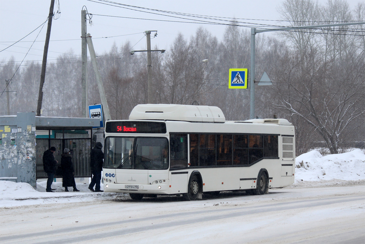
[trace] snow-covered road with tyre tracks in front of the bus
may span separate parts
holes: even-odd
[[[106,193],[102,193],[106,194]],[[365,185],[0,208],[1,243],[365,243]]]

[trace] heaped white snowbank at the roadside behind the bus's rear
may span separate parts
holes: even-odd
[[[365,154],[360,149],[322,156],[310,151],[295,159],[295,182],[365,179]]]

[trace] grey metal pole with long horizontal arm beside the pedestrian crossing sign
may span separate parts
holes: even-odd
[[[298,29],[310,29],[330,26],[351,26],[356,24],[365,24],[365,22],[353,22],[353,23],[342,23],[342,24],[319,24],[315,26],[296,26],[296,27],[284,27],[275,29],[264,29],[256,30],[251,28],[251,70],[250,70],[250,119],[255,119],[255,35],[261,32],[268,31],[287,31],[287,30],[298,30]]]

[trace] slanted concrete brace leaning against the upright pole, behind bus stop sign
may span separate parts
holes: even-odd
[[[96,62],[95,50],[94,50],[94,46],[92,44],[91,35],[89,33],[86,35],[86,41],[88,43],[91,63],[92,63],[92,66],[93,66],[94,72],[95,72],[97,88],[99,89],[101,104],[103,104],[104,118],[105,118],[105,121],[111,120],[107,97],[105,96],[104,86],[103,86],[103,83],[101,82],[101,75],[100,75],[99,67],[97,66],[97,62]]]

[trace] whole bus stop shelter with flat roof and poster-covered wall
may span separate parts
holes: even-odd
[[[0,179],[26,182],[34,188],[43,171],[43,152],[55,147],[61,162],[64,148],[72,154],[75,177],[91,177],[89,166],[93,127],[99,118],[39,117],[35,112],[0,116]]]

